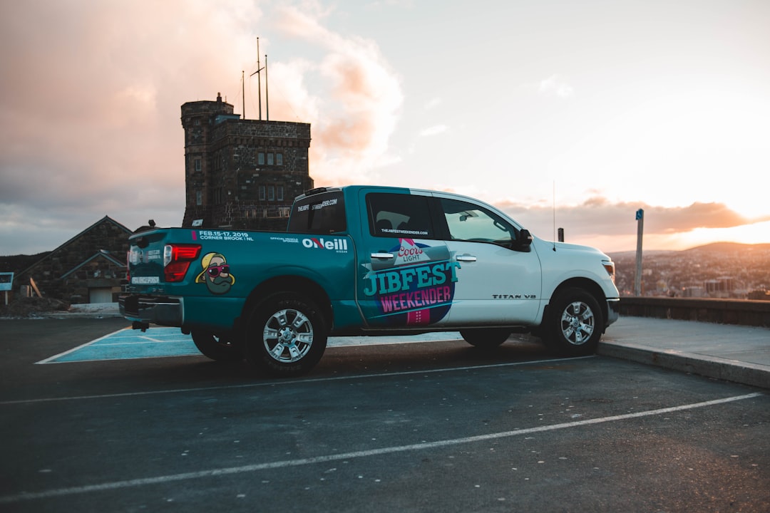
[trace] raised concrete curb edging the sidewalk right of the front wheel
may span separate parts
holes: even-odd
[[[708,355],[697,355],[672,349],[651,348],[644,345],[600,342],[598,355],[636,361],[674,371],[689,372],[707,378],[733,381],[742,385],[770,388],[770,371],[763,365],[729,360]]]

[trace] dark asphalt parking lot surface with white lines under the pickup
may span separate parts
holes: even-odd
[[[0,321],[2,511],[770,511],[762,389],[524,337],[281,381],[125,327]]]

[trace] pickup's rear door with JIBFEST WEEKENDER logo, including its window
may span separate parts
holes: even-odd
[[[370,328],[446,324],[457,261],[437,236],[430,193],[362,189],[365,205],[358,252],[357,301]]]

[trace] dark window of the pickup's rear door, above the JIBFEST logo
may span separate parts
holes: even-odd
[[[375,237],[436,238],[427,196],[367,194],[369,231]]]

